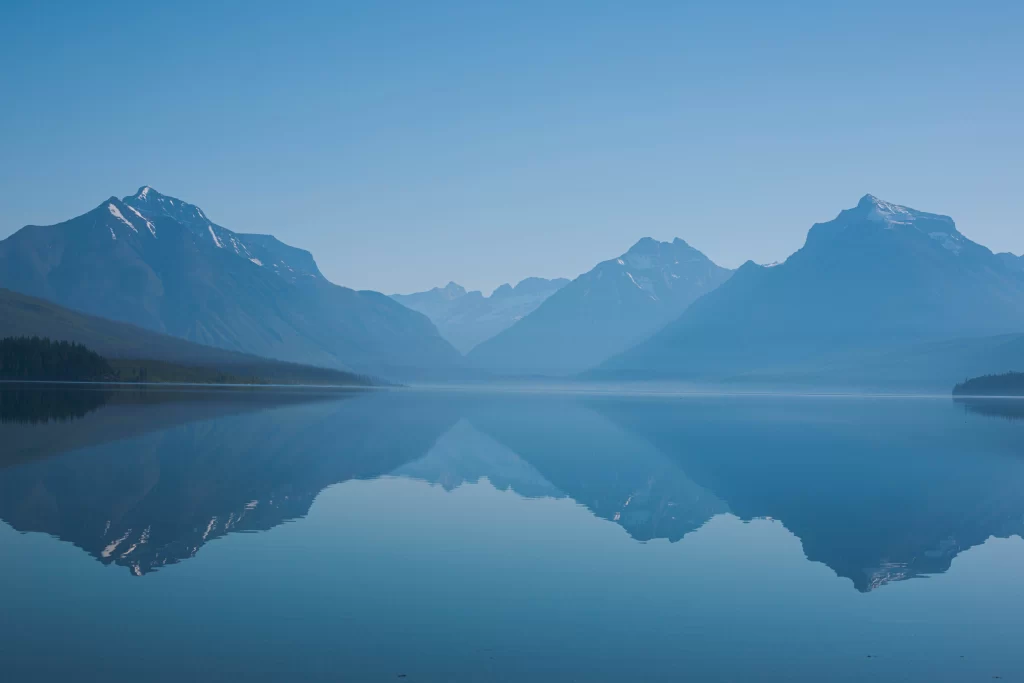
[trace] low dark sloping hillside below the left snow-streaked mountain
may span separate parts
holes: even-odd
[[[262,358],[144,330],[0,289],[0,337],[46,337],[84,344],[106,358],[162,360],[270,382],[366,382],[349,373]]]

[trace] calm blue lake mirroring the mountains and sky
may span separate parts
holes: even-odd
[[[0,386],[0,680],[1024,680],[1024,402]]]

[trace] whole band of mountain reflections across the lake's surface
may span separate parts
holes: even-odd
[[[407,391],[105,401],[72,423],[3,426],[16,447],[0,460],[0,518],[135,574],[303,517],[332,484],[384,475],[567,497],[641,542],[679,541],[726,512],[773,517],[861,591],[945,571],[988,537],[1024,531],[1019,426],[936,401]]]

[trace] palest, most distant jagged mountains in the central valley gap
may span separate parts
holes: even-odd
[[[468,353],[480,342],[531,313],[568,284],[564,278],[527,278],[515,287],[502,285],[485,297],[481,292],[467,292],[462,286],[449,283],[428,292],[394,294],[391,298],[429,317],[444,339]]]

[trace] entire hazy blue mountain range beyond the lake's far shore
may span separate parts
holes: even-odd
[[[26,331],[68,329],[71,313],[85,313],[204,348],[399,381],[934,388],[1024,370],[1024,257],[993,254],[947,216],[870,195],[770,266],[732,271],[681,239],[644,238],[571,282],[529,278],[490,296],[450,283],[388,297],[335,285],[309,252],[234,232],[143,186],[0,242],[0,288],[65,307],[37,306]]]

